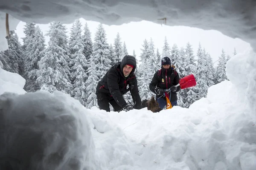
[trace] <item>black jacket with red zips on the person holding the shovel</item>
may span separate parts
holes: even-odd
[[[172,69],[171,67],[169,69],[161,68],[159,71],[157,71],[154,74],[154,77],[152,78],[152,81],[149,84],[149,89],[154,94],[156,94],[155,88],[162,88],[162,89],[168,89],[171,88],[173,85],[179,84],[179,74],[177,71]],[[160,96],[157,96],[157,98]],[[164,97],[164,96],[163,96]],[[174,92],[171,92],[171,99],[170,101],[173,102],[177,100],[177,94]]]

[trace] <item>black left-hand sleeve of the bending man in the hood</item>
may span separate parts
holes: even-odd
[[[110,94],[113,96],[116,103],[123,108],[127,103],[119,90],[118,73],[114,69],[111,69],[108,71],[107,80]]]

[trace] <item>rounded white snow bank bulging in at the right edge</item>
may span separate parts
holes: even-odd
[[[237,103],[244,112],[256,120],[256,53],[246,50],[232,57],[226,66],[227,78],[236,86],[239,93]]]

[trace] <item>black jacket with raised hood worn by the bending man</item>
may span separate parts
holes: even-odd
[[[130,64],[134,65],[130,75],[125,77],[123,74],[123,68],[125,65]],[[136,105],[134,106],[135,109],[141,108],[141,99],[139,95],[138,85],[137,85],[137,78],[134,74],[134,70],[136,68],[136,59],[133,56],[126,55],[121,63],[117,63],[116,65],[112,66],[108,72],[105,74],[103,79],[99,81],[96,93],[108,93],[110,96],[115,99],[117,104],[120,107],[124,107],[127,105],[125,99],[123,98],[123,94],[127,93],[129,88],[131,92],[131,96]]]

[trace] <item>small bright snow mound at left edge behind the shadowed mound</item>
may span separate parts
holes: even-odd
[[[17,94],[26,93],[23,87],[26,80],[17,73],[5,71],[0,67],[0,95],[4,92],[14,92]]]

